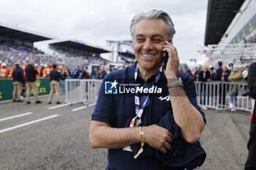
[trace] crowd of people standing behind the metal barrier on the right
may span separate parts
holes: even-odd
[[[228,69],[229,68],[229,69]],[[203,66],[196,67],[195,70],[190,71],[187,66],[184,66],[184,72],[190,74],[195,81],[199,82],[211,82],[211,81],[219,81],[219,82],[246,82],[248,75],[249,66],[238,67],[230,63],[227,65],[222,65],[222,61],[219,61],[217,69],[214,69],[213,66]],[[222,102],[223,106],[226,104],[226,93],[230,93],[230,103],[229,108],[232,112],[236,111],[236,96],[238,95],[238,86],[230,85],[229,91],[226,91],[225,84],[220,85],[219,88],[219,102]],[[201,101],[200,103],[203,105],[202,109],[207,109],[206,104],[206,86],[203,85],[200,90]],[[202,97],[203,96],[203,97]],[[203,99],[202,99],[203,98]],[[203,101],[202,101],[203,100]]]

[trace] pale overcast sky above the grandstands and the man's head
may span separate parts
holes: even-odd
[[[106,40],[131,39],[129,23],[139,12],[161,9],[173,19],[180,62],[205,61],[207,0],[1,0],[0,22],[59,39],[78,39],[107,47]]]

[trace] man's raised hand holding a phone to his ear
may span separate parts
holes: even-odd
[[[166,51],[169,56],[166,64],[165,77],[167,79],[177,78],[179,59],[176,47],[174,47],[170,42],[166,41],[162,51]]]

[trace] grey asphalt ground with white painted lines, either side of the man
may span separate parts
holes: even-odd
[[[60,101],[64,104],[64,94]],[[93,150],[89,125],[95,106],[0,103],[0,169],[105,169],[107,150]],[[78,109],[72,111],[72,109]],[[24,114],[20,117],[15,115]],[[243,169],[249,139],[249,112],[208,109],[200,142],[206,161],[198,169]],[[10,117],[10,119],[6,119]]]

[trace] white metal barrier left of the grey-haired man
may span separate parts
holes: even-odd
[[[102,80],[65,80],[65,88],[67,89],[65,103],[96,103],[101,82]]]

